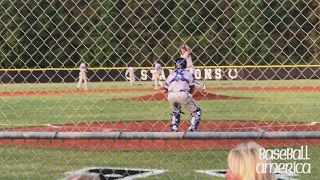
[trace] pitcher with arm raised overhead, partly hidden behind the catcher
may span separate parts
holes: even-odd
[[[189,48],[189,46],[187,46],[186,44],[183,44],[180,48],[181,51],[181,58],[183,58],[186,62],[187,62],[187,70],[190,71],[194,77],[194,73],[195,73],[195,68],[193,65],[193,61],[191,58],[191,49]],[[200,82],[198,82],[197,80],[195,80],[195,85],[198,87],[201,87],[204,91],[206,90],[206,86],[205,84],[202,84]]]

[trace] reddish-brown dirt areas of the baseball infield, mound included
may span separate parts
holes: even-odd
[[[210,89],[218,90],[218,89]],[[219,89],[221,90],[221,89]],[[226,88],[224,90],[255,90],[255,91],[288,91],[288,92],[320,92],[315,87],[283,87],[283,88]],[[128,100],[163,100],[165,95],[152,89],[133,90],[94,90],[94,91],[45,91],[45,92],[2,92],[0,96],[46,96],[84,93],[117,93],[117,92],[153,92],[152,95],[130,98]],[[221,96],[212,93],[197,92],[195,99],[199,100],[228,100],[242,99],[241,97]],[[66,124],[61,126],[38,126],[7,129],[10,132],[169,132],[168,121],[144,122],[118,122],[94,124]],[[188,128],[187,122],[182,122],[181,131]],[[205,121],[199,126],[203,132],[316,132],[320,124],[295,124],[262,121]],[[230,149],[240,142],[252,141],[250,139],[212,139],[212,140],[36,140],[36,139],[1,139],[2,145],[42,147],[42,148],[68,148],[83,150],[200,150],[200,149]],[[270,139],[257,140],[263,147],[301,146],[320,144],[320,139]]]

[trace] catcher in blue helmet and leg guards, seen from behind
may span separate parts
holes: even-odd
[[[183,58],[176,60],[175,69],[168,76],[162,92],[168,92],[168,101],[171,106],[171,131],[177,132],[180,124],[181,106],[184,106],[191,112],[189,123],[190,132],[197,131],[201,120],[201,109],[191,97],[195,88],[194,77],[192,73],[186,70],[186,61]],[[190,93],[190,94],[189,94]]]

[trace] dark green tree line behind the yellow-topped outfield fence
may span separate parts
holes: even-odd
[[[269,0],[0,2],[1,68],[318,64],[319,3]]]

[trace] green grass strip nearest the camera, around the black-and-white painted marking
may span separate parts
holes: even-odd
[[[299,148],[299,147],[297,147]],[[295,179],[319,179],[320,147],[309,146],[310,174],[299,174]],[[65,172],[87,167],[118,167],[159,169],[168,172],[147,179],[216,179],[194,170],[227,169],[229,150],[209,151],[81,151],[26,147],[1,147],[1,179],[61,179]],[[278,163],[290,161],[274,161]]]

